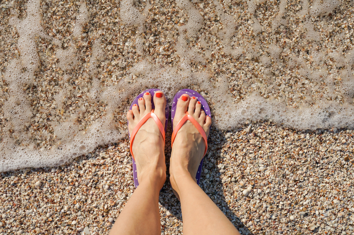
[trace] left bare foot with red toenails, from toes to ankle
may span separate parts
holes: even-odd
[[[162,96],[158,97],[160,94]],[[145,93],[143,98],[139,98],[138,105],[133,105],[132,110],[128,111],[129,133],[132,133],[138,122],[151,112],[151,98],[150,93]],[[153,99],[154,114],[165,128],[165,95],[161,91],[157,91]],[[162,188],[166,180],[165,145],[159,127],[152,118],[149,118],[136,133],[132,152],[136,162],[138,182],[141,183],[144,179],[149,178],[157,180],[157,186]]]

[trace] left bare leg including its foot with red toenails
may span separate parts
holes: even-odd
[[[164,94],[162,97],[156,97],[158,93],[162,92],[156,92],[154,95],[154,113],[165,125],[166,98]],[[139,120],[150,113],[150,94],[144,94],[138,104],[139,106],[133,106],[132,111],[127,114],[130,133]],[[114,223],[110,235],[160,235],[159,193],[166,180],[165,147],[160,130],[152,118],[137,132],[132,151],[137,165],[139,186]]]

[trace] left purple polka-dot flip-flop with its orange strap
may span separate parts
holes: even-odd
[[[137,97],[135,97],[135,99],[133,100],[132,104],[130,105],[130,110],[132,109],[134,104],[138,104],[138,99],[143,97],[146,92],[149,92],[151,94],[151,96],[152,96],[151,103],[152,103],[152,110],[154,110],[155,109],[155,105],[154,105],[153,97],[154,97],[154,94],[155,94],[156,91],[160,91],[160,90],[159,89],[148,89],[148,90],[143,91],[142,93],[140,93]],[[167,100],[166,100],[166,102],[167,102]],[[134,130],[133,130],[133,132],[131,134],[129,133],[129,139],[131,140],[130,141],[130,153],[131,153],[132,158],[133,158],[133,179],[134,179],[135,188],[138,187],[138,185],[139,185],[137,172],[136,172],[136,164],[135,164],[135,160],[134,160],[134,156],[133,156],[133,152],[132,152],[132,146],[133,146],[135,134],[138,132],[140,127],[142,125],[144,125],[144,123],[150,117],[152,117],[154,119],[154,121],[156,122],[156,125],[158,125],[158,127],[160,129],[160,132],[162,134],[162,137],[164,137],[164,142],[165,142],[165,133],[166,133],[166,130],[167,130],[167,122],[169,121],[169,113],[170,113],[170,108],[169,108],[169,105],[166,103],[166,108],[165,108],[166,122],[165,122],[165,130],[164,130],[164,132],[162,132],[163,131],[163,126],[162,126],[162,123],[161,123],[160,119],[158,119],[158,117],[152,111],[152,112],[146,114],[138,122],[138,124],[136,125],[136,127],[134,128]],[[129,125],[129,122],[128,122],[128,125]],[[129,132],[129,130],[128,130],[128,132]]]

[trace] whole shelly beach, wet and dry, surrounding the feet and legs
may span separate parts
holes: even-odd
[[[126,113],[146,88],[207,99],[200,187],[240,233],[354,233],[353,12],[348,0],[0,2],[0,235],[109,233],[135,189]],[[160,214],[161,234],[183,234],[168,179]]]

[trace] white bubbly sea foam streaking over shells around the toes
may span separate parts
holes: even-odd
[[[227,3],[228,1],[226,1]],[[146,53],[148,50],[145,46],[147,38],[159,37],[159,35],[149,36],[146,29],[146,22],[151,21],[149,8],[152,6],[149,2],[146,3],[142,11],[136,8],[136,4],[132,0],[120,2],[120,8],[113,10],[112,15],[119,13],[121,21],[119,29],[129,28],[136,31],[136,38],[133,41],[125,38],[124,41],[113,41],[109,44],[104,44],[101,38],[91,40],[90,35],[83,34],[93,16],[85,3],[79,3],[76,18],[72,19],[72,35],[65,40],[67,46],[63,46],[62,37],[55,29],[44,30],[41,24],[44,18],[41,7],[44,8],[42,5],[45,2],[42,2],[41,5],[38,0],[29,0],[26,9],[27,16],[23,19],[17,15],[13,4],[10,2],[8,5],[2,4],[0,6],[3,12],[11,11],[11,14],[8,14],[9,18],[4,21],[0,30],[7,30],[6,32],[13,30],[17,33],[13,34],[15,35],[13,37],[17,39],[16,45],[20,55],[19,58],[7,61],[6,68],[1,71],[3,102],[0,109],[2,137],[0,171],[23,167],[61,165],[74,157],[93,151],[99,145],[114,143],[125,138],[127,136],[125,113],[131,99],[148,87],[161,89],[170,100],[174,93],[181,88],[189,87],[200,91],[212,107],[213,125],[221,130],[232,130],[246,122],[259,120],[270,120],[276,124],[300,130],[353,128],[354,49],[350,48],[351,50],[345,50],[344,53],[334,50],[333,53],[326,54],[315,47],[307,48],[312,57],[312,65],[309,65],[304,58],[298,55],[290,56],[290,61],[284,64],[282,56],[287,52],[276,43],[263,45],[263,52],[260,55],[259,51],[262,50],[259,48],[262,46],[262,41],[257,35],[262,34],[265,26],[262,25],[264,22],[259,21],[256,13],[257,8],[264,4],[264,1],[248,0],[245,3],[242,1],[238,3],[247,4],[247,13],[250,21],[253,22],[249,31],[253,32],[254,41],[246,44],[242,37],[235,35],[236,29],[242,27],[242,22],[238,21],[240,14],[238,16],[228,14],[225,12],[225,4],[214,0],[215,14],[223,26],[212,31],[212,36],[219,40],[219,47],[215,48],[214,45],[208,44],[205,37],[199,35],[200,30],[208,24],[207,19],[202,16],[204,15],[202,13],[204,6],[201,3],[195,4],[187,0],[177,0],[176,8],[179,8],[182,15],[187,16],[188,21],[182,22],[178,19],[178,35],[172,43],[178,60],[173,66],[161,66]],[[232,3],[229,1],[229,6],[231,5]],[[302,9],[297,14],[304,17],[303,29],[305,31],[303,35],[306,37],[304,42],[307,44],[321,42],[321,35],[314,29],[314,18],[311,17],[328,14],[339,5],[340,2],[337,0],[324,1],[323,4],[320,1],[315,1],[313,6],[310,6],[308,1],[303,2]],[[275,13],[271,24],[273,30],[281,28],[289,21],[288,16],[288,18],[284,17],[287,11],[286,1],[281,0],[278,8],[278,13]],[[59,81],[57,84],[61,88],[56,88],[53,94],[44,98],[49,104],[43,107],[42,111],[35,112],[33,101],[28,97],[28,87],[37,89],[38,96],[40,96],[42,91],[49,88],[50,82],[54,79],[50,77],[42,81],[39,78],[39,70],[50,69],[49,62],[46,64],[39,58],[39,53],[41,53],[37,43],[39,37],[55,47],[53,53],[46,56],[58,61],[57,65],[61,74],[51,76]],[[204,47],[203,53],[200,53],[197,47],[190,45],[190,38],[197,37],[199,37],[199,45]],[[10,39],[13,38],[10,36]],[[79,46],[88,46],[89,43],[91,49],[88,53],[91,57],[90,61],[86,63],[87,69],[85,70],[82,69],[84,62],[78,63],[80,58],[77,58],[76,54]],[[127,68],[126,62],[131,60],[130,54],[127,53],[125,57],[112,60],[103,50],[103,47],[108,45],[111,45],[111,48],[114,47],[112,50],[119,46],[127,48],[130,53],[133,51],[141,59]],[[258,61],[249,64],[247,69],[251,71],[256,66],[261,71],[259,76],[264,78],[263,82],[252,80],[249,74],[241,74],[237,68],[230,68],[230,73],[213,71],[211,64],[217,67],[217,63],[223,61],[220,55],[215,58],[213,63],[208,62],[210,57],[215,55],[215,50],[222,52],[221,55],[224,57],[240,61],[253,58],[254,61]],[[164,53],[162,47],[160,51]],[[4,55],[3,52],[0,53],[0,56]],[[2,59],[4,61],[4,58]],[[340,69],[319,68],[319,65],[324,66],[324,61],[329,59],[334,61]],[[107,65],[108,71],[99,70],[98,67],[105,63],[111,63],[111,66],[121,68],[124,73],[120,73],[118,70],[109,71],[109,65]],[[206,69],[196,70],[192,66],[193,64],[203,65]],[[272,75],[274,67],[298,68],[297,75],[303,78],[305,83],[325,84],[323,96],[308,97],[306,102],[302,102],[301,99],[305,99],[304,97],[294,95],[292,99],[299,103],[297,107],[286,103],[285,98],[272,99],[270,96],[264,96],[264,93],[271,93],[275,89],[285,91],[292,88],[289,87],[289,84],[296,79],[282,78],[282,82],[279,82],[277,79],[281,77],[281,74]],[[80,78],[90,78],[85,80],[85,88],[80,91],[76,88],[74,92],[76,101],[79,103],[82,101],[81,107],[77,107],[80,106],[77,105],[76,108],[74,107],[74,111],[68,109],[72,105],[68,99],[71,94],[70,89],[72,84],[75,84],[75,81],[70,77],[69,70],[80,73],[78,75]],[[109,83],[105,83],[101,79],[104,76],[109,77]],[[235,89],[231,89],[237,88],[237,81],[241,76],[247,76],[247,78],[250,76],[249,85],[254,88],[253,93],[247,94],[243,98],[239,98],[239,95],[242,94],[241,91],[238,95],[237,92],[234,92]],[[320,85],[315,85],[313,89],[313,93],[315,93],[316,89],[320,89]],[[335,98],[338,96],[341,98]],[[90,115],[94,115],[96,109],[91,110],[90,115],[85,115],[85,107],[89,104],[103,105],[102,115],[96,119],[90,119]],[[97,107],[98,109],[99,107]],[[65,118],[50,120],[50,115],[62,115]],[[84,115],[89,120],[87,125],[82,126],[79,123],[80,115]],[[31,132],[31,130],[37,130],[38,124],[51,131],[48,134],[44,129],[43,133]],[[50,144],[39,145],[39,142]]]

